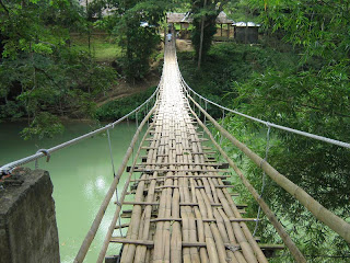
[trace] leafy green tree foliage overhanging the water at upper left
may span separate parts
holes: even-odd
[[[116,81],[112,68],[66,44],[86,25],[77,4],[1,1],[0,117],[27,117],[26,138],[59,132],[55,115],[94,116],[93,99]]]

